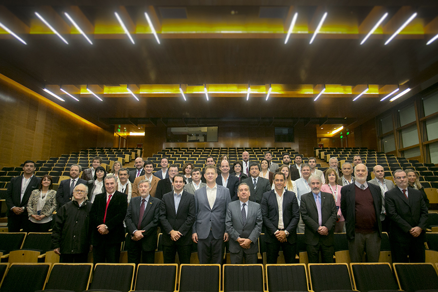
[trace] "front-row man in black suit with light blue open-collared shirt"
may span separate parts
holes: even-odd
[[[178,251],[180,263],[189,264],[192,254],[192,226],[195,222],[195,196],[183,190],[184,177],[173,177],[173,192],[164,194],[160,207],[163,228],[165,264],[175,263]]]

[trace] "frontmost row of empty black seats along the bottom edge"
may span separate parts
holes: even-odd
[[[351,277],[350,277],[351,273]],[[437,291],[432,264],[0,264],[2,292]]]

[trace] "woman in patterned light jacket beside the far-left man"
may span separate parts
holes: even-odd
[[[39,189],[32,191],[27,203],[27,213],[31,220],[30,232],[49,232],[52,228],[52,214],[56,210],[56,191],[53,179],[46,174],[41,179]]]

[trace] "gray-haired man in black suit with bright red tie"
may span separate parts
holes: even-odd
[[[93,262],[118,263],[120,243],[125,240],[125,219],[128,208],[127,195],[117,191],[116,178],[105,177],[106,192],[97,194],[90,211],[91,245]]]

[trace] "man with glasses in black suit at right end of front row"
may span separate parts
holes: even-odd
[[[386,216],[391,220],[389,240],[395,263],[424,263],[427,207],[420,191],[408,187],[406,173],[394,171],[397,187],[385,193]],[[409,256],[409,259],[408,259]]]

